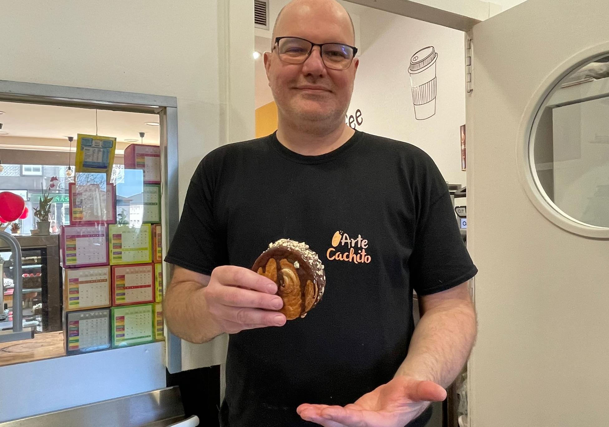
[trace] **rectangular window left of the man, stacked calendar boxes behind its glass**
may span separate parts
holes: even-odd
[[[106,119],[122,115],[114,125],[119,130],[133,121],[125,115],[142,116],[141,124],[158,121],[143,113],[105,113]],[[0,365],[164,339],[160,148],[158,135],[149,139],[130,144],[83,132],[74,138],[79,155],[69,155],[66,164],[2,162],[0,194],[23,200],[23,213],[2,218],[0,230],[21,245],[23,326],[35,334],[0,340]],[[27,150],[12,153],[33,160]],[[0,333],[12,328],[15,267],[0,241]]]

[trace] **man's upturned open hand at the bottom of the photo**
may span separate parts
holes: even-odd
[[[442,401],[446,390],[431,381],[396,376],[347,406],[301,404],[303,420],[324,427],[404,427],[418,417],[430,401]]]

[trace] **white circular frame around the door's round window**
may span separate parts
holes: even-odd
[[[518,177],[521,185],[538,211],[549,221],[579,236],[595,239],[609,239],[609,227],[597,227],[585,224],[563,212],[543,191],[543,186],[535,170],[535,157],[533,156],[535,133],[540,119],[541,107],[546,103],[548,96],[570,72],[590,63],[594,59],[609,54],[609,41],[597,44],[578,52],[560,66],[554,69],[549,76],[538,86],[529,103],[524,109],[516,139],[516,162],[518,163]],[[566,70],[566,71],[565,71]]]

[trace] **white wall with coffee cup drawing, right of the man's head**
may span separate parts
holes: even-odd
[[[465,124],[463,33],[367,9],[360,20],[360,63],[348,114],[361,110],[357,129],[420,147],[445,180],[465,185],[459,145],[459,127]],[[426,46],[438,52],[436,113],[417,120],[408,67],[410,57]]]

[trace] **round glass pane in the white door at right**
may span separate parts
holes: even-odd
[[[609,56],[550,91],[533,122],[529,160],[538,191],[563,219],[609,228]]]

